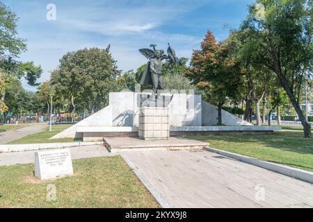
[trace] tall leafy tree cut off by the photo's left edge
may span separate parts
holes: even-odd
[[[0,110],[4,110],[5,103],[8,109],[15,110],[15,105],[12,105],[14,103],[12,93],[22,95],[22,90],[8,94],[5,92],[6,88],[11,87],[10,84],[18,85],[13,78],[17,80],[25,78],[29,85],[35,86],[38,85],[36,81],[42,74],[41,67],[36,67],[33,62],[17,61],[19,54],[26,51],[26,40],[17,37],[17,21],[17,15],[0,2],[0,71],[3,83],[0,89]],[[6,95],[9,97],[6,98]],[[31,106],[31,103],[29,105]]]

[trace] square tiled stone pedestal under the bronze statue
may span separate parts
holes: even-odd
[[[139,116],[140,139],[158,140],[170,137],[168,108],[143,107]]]

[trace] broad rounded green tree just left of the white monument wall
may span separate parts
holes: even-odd
[[[89,112],[100,110],[108,103],[108,95],[116,89],[120,71],[109,49],[81,49],[69,52],[51,73],[51,85],[56,94],[71,101],[72,113],[77,103],[84,103]]]

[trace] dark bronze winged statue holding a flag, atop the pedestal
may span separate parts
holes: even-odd
[[[141,76],[141,85],[152,85],[154,96],[157,98],[157,90],[164,89],[162,79],[162,67],[164,64],[174,63],[179,65],[179,59],[175,55],[174,49],[168,44],[168,56],[163,50],[155,49],[157,45],[151,44],[152,49],[139,49],[141,54],[149,60],[147,67]]]

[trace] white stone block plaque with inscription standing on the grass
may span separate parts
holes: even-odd
[[[49,180],[73,175],[72,157],[69,149],[35,152],[35,177]]]

